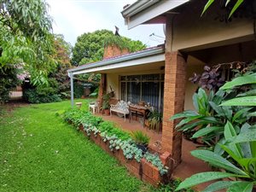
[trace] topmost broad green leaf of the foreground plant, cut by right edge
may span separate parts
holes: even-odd
[[[242,1],[242,0],[240,0],[240,1]],[[233,79],[232,81],[225,83],[220,88],[220,90],[232,89],[235,86],[243,85],[243,84],[256,84],[255,75],[256,75],[256,73],[253,73],[251,75],[241,76],[236,79]]]

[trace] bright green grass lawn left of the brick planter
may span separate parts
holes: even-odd
[[[0,113],[0,191],[152,190],[55,115],[69,107],[66,101]]]

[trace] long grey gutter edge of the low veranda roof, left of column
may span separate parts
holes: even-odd
[[[119,55],[119,56],[111,57],[111,58],[108,58],[108,59],[104,59],[102,61],[96,61],[96,62],[84,64],[84,65],[79,66],[79,67],[71,68],[71,69],[67,70],[67,73],[75,73],[75,72],[79,72],[79,71],[82,71],[82,70],[85,70],[85,69],[108,66],[108,65],[111,65],[111,64],[121,63],[121,62],[124,62],[124,61],[136,60],[136,59],[140,59],[140,58],[143,58],[143,57],[148,57],[148,56],[151,56],[151,55],[159,55],[159,54],[162,54],[164,52],[165,52],[164,46],[163,46],[163,44],[160,44],[158,46],[150,47],[150,48],[143,49],[143,50],[133,52],[133,53],[130,53],[130,54]]]

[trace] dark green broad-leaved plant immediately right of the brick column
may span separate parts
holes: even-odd
[[[224,94],[224,90],[218,90],[214,95],[211,90],[207,96],[206,91],[200,88],[193,96],[196,111],[187,110],[172,116],[171,119],[183,118],[176,128],[184,132],[195,132],[192,138],[202,137],[202,141],[212,148],[224,138],[224,125],[227,120],[232,122],[239,132],[239,127],[252,119],[247,112],[253,108],[222,106]]]

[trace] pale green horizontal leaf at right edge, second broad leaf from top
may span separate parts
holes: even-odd
[[[243,96],[230,99],[221,103],[220,106],[256,106],[256,96]]]

